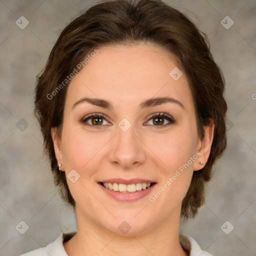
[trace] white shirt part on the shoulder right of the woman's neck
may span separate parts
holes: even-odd
[[[205,250],[202,250],[199,244],[189,235],[179,233],[179,242],[181,246],[189,251],[190,256],[213,256]]]

